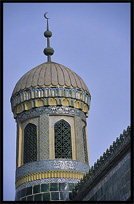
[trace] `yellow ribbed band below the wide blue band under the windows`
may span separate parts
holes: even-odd
[[[23,176],[16,181],[15,185],[16,188],[18,188],[18,186],[20,186],[23,183],[47,178],[73,178],[80,180],[83,178],[83,176],[84,173],[75,171],[43,171]]]

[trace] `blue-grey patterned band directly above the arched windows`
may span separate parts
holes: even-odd
[[[66,107],[66,106],[48,106],[48,107],[34,108],[26,112],[20,113],[17,116],[16,121],[21,122],[31,117],[40,116],[41,114],[78,116],[78,117],[81,117],[82,120],[86,121],[86,116],[83,111],[78,110],[76,108]]]

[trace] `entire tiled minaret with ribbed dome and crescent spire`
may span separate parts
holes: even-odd
[[[47,62],[24,74],[11,96],[17,124],[16,201],[69,200],[89,171],[86,117],[91,95],[80,76],[51,62],[48,18],[44,35]]]

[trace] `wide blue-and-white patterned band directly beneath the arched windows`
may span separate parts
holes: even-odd
[[[31,173],[57,170],[86,173],[89,171],[89,166],[84,162],[69,159],[40,160],[18,167],[16,169],[16,180]]]

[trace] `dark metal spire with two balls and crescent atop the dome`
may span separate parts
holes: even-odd
[[[52,36],[52,32],[49,31],[49,26],[48,26],[48,19],[49,18],[46,17],[47,13],[48,12],[46,12],[44,14],[44,17],[47,19],[47,31],[44,32],[44,36],[47,38],[47,48],[44,49],[44,54],[47,55],[47,61],[51,62],[51,55],[54,54],[54,50],[53,50],[53,48],[50,47],[49,38]]]

